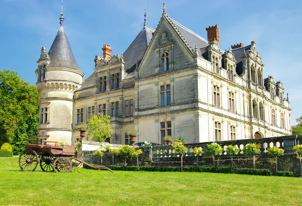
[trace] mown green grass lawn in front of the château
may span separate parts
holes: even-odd
[[[302,178],[217,173],[22,172],[0,158],[0,205],[300,205]]]

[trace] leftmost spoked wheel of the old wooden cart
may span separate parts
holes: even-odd
[[[22,171],[35,171],[39,164],[39,158],[35,151],[24,150],[19,157],[19,166]]]

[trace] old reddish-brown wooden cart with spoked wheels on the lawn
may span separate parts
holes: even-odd
[[[39,140],[30,140],[30,142],[40,142]],[[79,168],[82,164],[88,165],[95,169],[111,169],[103,166],[93,166],[82,160],[73,157],[74,148],[71,145],[56,146],[58,141],[44,141],[45,144],[54,145],[42,145],[42,144],[25,144],[25,150],[19,157],[19,166],[22,171],[35,171],[38,164],[45,172],[70,172],[72,165],[77,165]]]

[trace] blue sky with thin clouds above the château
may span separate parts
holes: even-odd
[[[0,0],[0,70],[18,72],[35,85],[41,47],[48,50],[59,29],[61,1]],[[86,78],[94,72],[103,44],[124,52],[143,27],[144,0],[64,0],[64,30]],[[146,0],[147,25],[156,29],[163,1]],[[264,77],[281,80],[289,93],[291,124],[302,115],[300,0],[166,0],[168,15],[206,39],[205,28],[218,24],[219,46],[228,49],[256,40],[265,64]],[[286,96],[286,95],[285,95]]]

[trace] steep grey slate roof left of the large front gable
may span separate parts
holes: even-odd
[[[155,32],[153,28],[144,26],[127,48],[125,53],[123,53],[125,61],[124,68],[127,73],[134,72],[136,63],[141,61],[152,39],[153,32]]]

